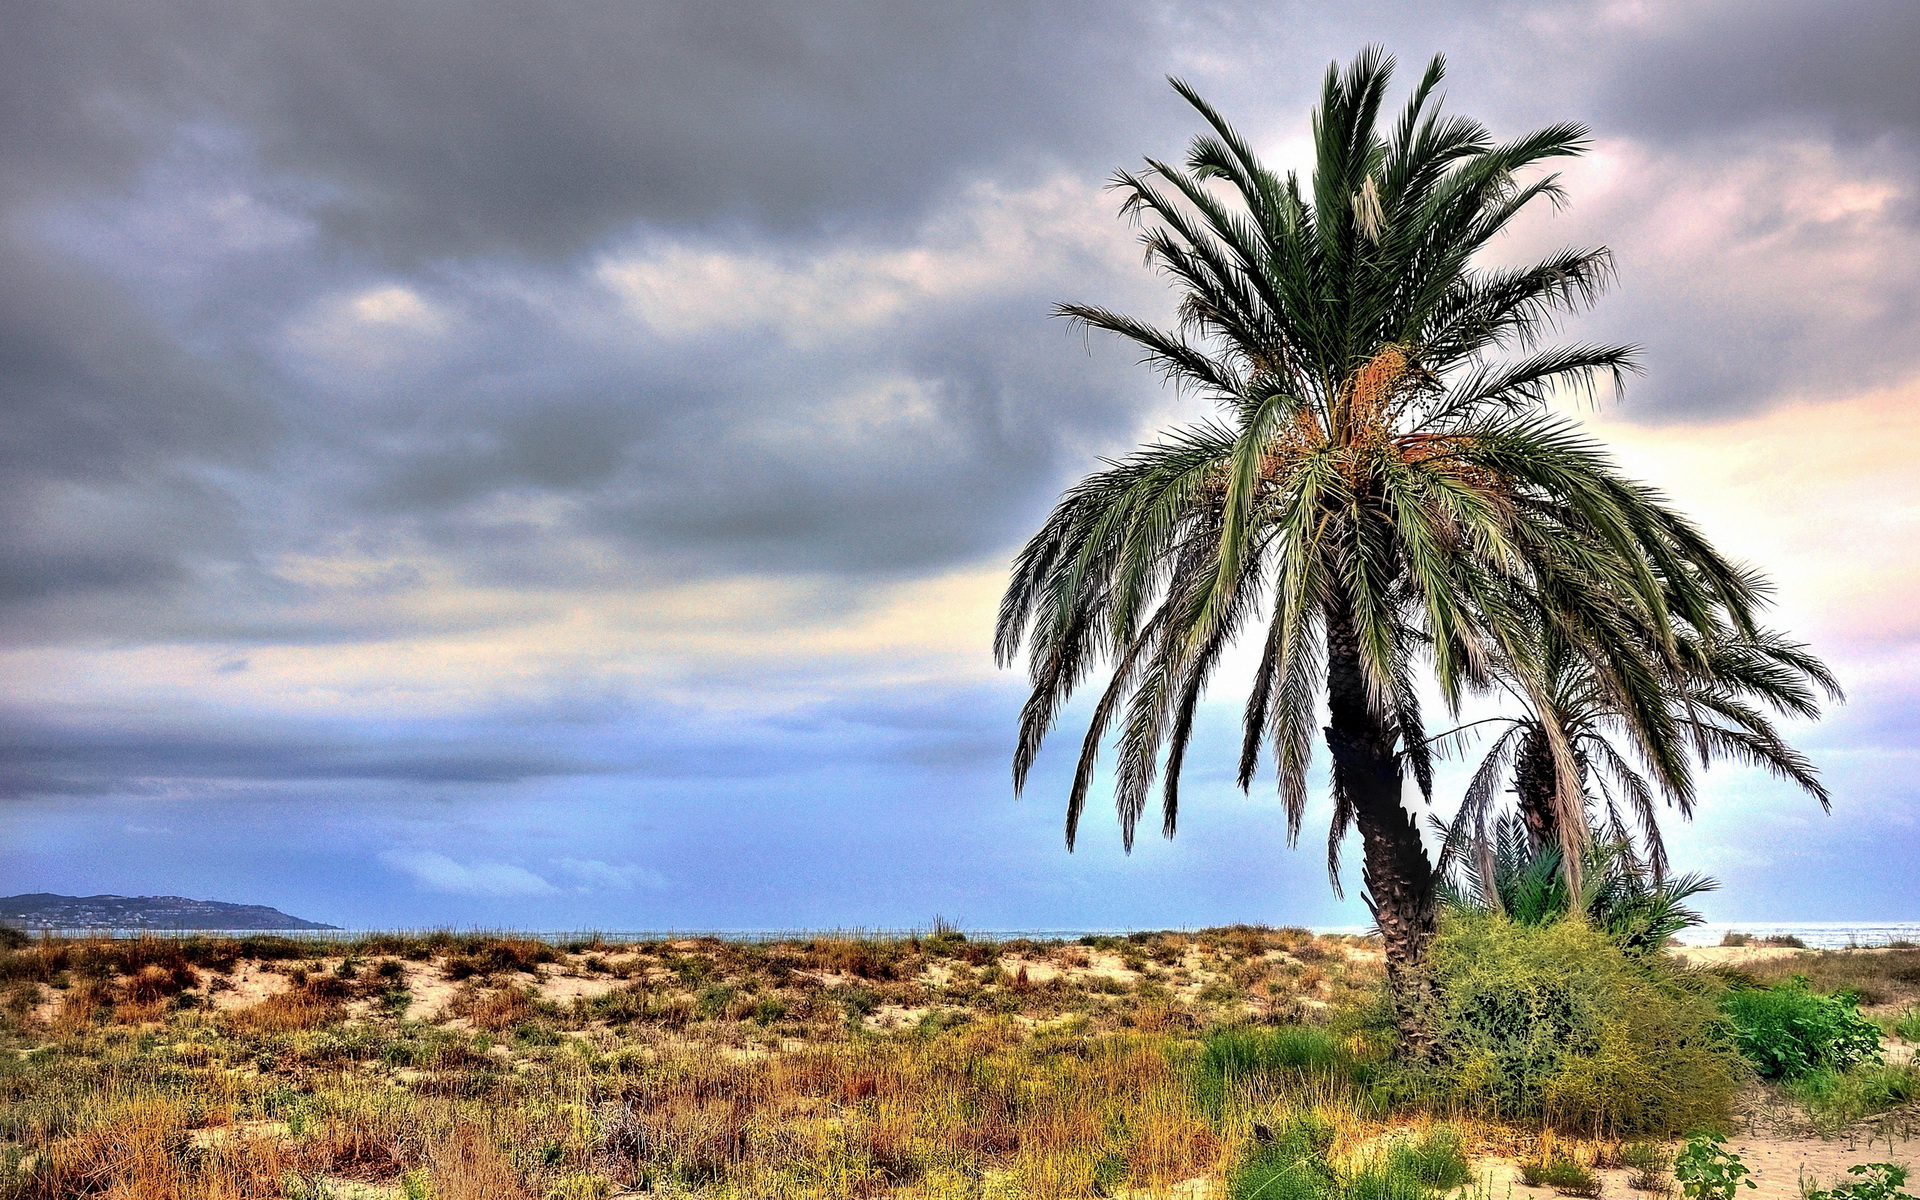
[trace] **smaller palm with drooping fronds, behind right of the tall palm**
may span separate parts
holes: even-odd
[[[1534,697],[1501,680],[1523,705],[1521,716],[1471,722],[1500,728],[1475,770],[1461,806],[1448,828],[1442,866],[1465,847],[1486,843],[1494,801],[1511,781],[1515,808],[1530,847],[1563,847],[1559,780],[1548,730],[1557,726],[1572,751],[1572,785],[1594,801],[1611,841],[1632,847],[1638,826],[1642,854],[1653,877],[1667,874],[1667,847],[1659,828],[1659,799],[1682,816],[1693,814],[1692,760],[1734,758],[1799,785],[1820,808],[1830,806],[1826,785],[1805,755],[1772,724],[1772,714],[1816,718],[1820,695],[1843,699],[1839,682],[1803,643],[1772,630],[1740,634],[1724,622],[1705,630],[1682,628],[1674,637],[1680,672],[1663,682],[1647,703],[1665,710],[1665,730],[1647,730],[1638,718],[1647,703],[1620,703],[1613,682],[1569,651],[1551,632],[1540,662],[1546,687]],[[1503,674],[1496,666],[1496,678]],[[1770,712],[1768,712],[1770,710]],[[1461,730],[1430,737],[1436,747]],[[1628,749],[1622,753],[1615,741]],[[1688,753],[1692,751],[1692,753]]]

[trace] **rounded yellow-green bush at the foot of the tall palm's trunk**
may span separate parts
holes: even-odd
[[[1444,918],[1427,958],[1423,1069],[1448,1104],[1599,1137],[1728,1119],[1736,1064],[1699,977],[1586,922]]]

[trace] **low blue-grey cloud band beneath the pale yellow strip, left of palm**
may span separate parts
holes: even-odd
[[[0,799],[392,783],[762,780],[837,762],[998,768],[1000,689],[856,689],[758,720],[655,701],[351,722],[0,708]],[[995,714],[996,716],[996,714]],[[993,728],[989,728],[993,726]]]

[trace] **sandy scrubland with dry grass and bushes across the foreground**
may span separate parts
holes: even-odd
[[[1302,929],[25,941],[0,1200],[1663,1194],[1692,1129],[1905,1135],[1920,952],[1622,962],[1457,931],[1409,1064],[1379,947]],[[1795,975],[1878,1062],[1741,1058],[1726,996]]]

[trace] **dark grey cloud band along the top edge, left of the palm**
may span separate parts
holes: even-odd
[[[236,129],[399,261],[634,221],[835,228],[1114,131],[1154,69],[1119,4],[125,4],[13,13],[13,188],[111,186]]]

